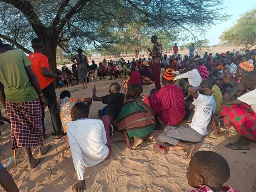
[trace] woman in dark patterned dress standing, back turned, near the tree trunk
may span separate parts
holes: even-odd
[[[87,57],[82,54],[82,49],[77,49],[78,55],[71,58],[74,64],[77,64],[77,75],[79,83],[82,83],[83,89],[87,88],[87,64],[89,63]],[[75,60],[77,62],[75,62]]]

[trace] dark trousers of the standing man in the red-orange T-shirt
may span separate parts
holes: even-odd
[[[57,97],[54,89],[54,85],[50,84],[45,89],[42,90],[44,97],[48,101],[48,109],[51,114],[51,122],[52,127],[55,133],[61,132],[61,121],[60,116],[57,112]],[[43,130],[45,134],[45,127],[44,127],[44,108],[42,108],[42,123],[43,123]]]

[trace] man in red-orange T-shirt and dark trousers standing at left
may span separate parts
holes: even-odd
[[[57,97],[52,83],[54,78],[57,77],[57,74],[53,74],[49,71],[48,58],[42,54],[44,48],[42,41],[38,38],[34,38],[32,39],[31,44],[34,49],[34,53],[28,56],[29,60],[32,62],[31,68],[39,81],[44,97],[48,100],[48,109],[51,114],[51,122],[55,138],[60,139],[64,136],[64,133],[61,132],[62,125],[57,112]],[[42,108],[42,123],[45,135],[44,108]]]

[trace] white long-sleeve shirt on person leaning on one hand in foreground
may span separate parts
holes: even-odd
[[[92,167],[109,154],[104,124],[100,119],[72,121],[67,125],[67,136],[78,180],[84,180],[84,166]]]

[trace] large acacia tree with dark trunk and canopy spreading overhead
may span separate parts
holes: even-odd
[[[127,24],[185,39],[204,33],[221,15],[223,0],[0,0],[0,38],[31,53],[30,40],[43,41],[43,53],[56,70],[57,47],[66,53],[112,47]],[[131,14],[133,13],[133,14]],[[153,35],[153,34],[150,34]]]

